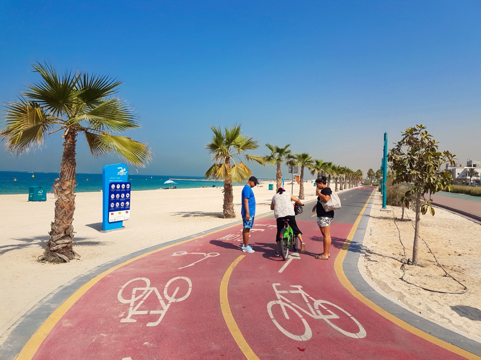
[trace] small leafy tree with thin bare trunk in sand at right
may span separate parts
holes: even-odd
[[[448,189],[451,191],[452,175],[447,171],[440,170],[441,166],[448,162],[454,166],[455,155],[449,151],[440,152],[439,144],[426,131],[424,125],[409,127],[402,133],[402,139],[389,150],[388,161],[393,171],[392,183],[409,183],[412,189],[406,192],[405,205],[409,206],[407,196],[412,194],[416,198],[416,220],[414,227],[413,263],[418,262],[419,242],[419,214],[428,211],[434,216],[434,208],[431,199],[424,195]]]

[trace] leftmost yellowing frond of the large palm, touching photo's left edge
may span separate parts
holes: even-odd
[[[20,155],[31,146],[40,146],[58,119],[45,113],[38,103],[20,100],[8,104],[5,112],[5,127],[0,132],[6,147]]]

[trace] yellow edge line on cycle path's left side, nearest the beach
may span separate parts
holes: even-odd
[[[272,214],[272,211],[268,212],[266,214],[263,214],[261,216],[258,216],[257,218],[259,219],[261,217],[265,217],[265,216],[268,216],[270,214]],[[145,254],[136,256],[136,257],[134,257],[130,260],[127,260],[127,261],[121,263],[121,264],[117,264],[117,265],[111,267],[110,269],[105,270],[103,273],[101,273],[101,274],[95,276],[94,278],[90,279],[87,283],[85,283],[78,290],[76,290],[76,292],[74,292],[67,300],[65,300],[54,312],[51,313],[51,315],[47,318],[47,320],[45,320],[45,322],[42,325],[40,325],[40,327],[35,332],[35,334],[27,341],[27,343],[22,348],[22,350],[20,351],[18,356],[15,358],[15,360],[31,360],[33,358],[33,356],[35,355],[35,353],[37,352],[40,345],[42,344],[43,340],[45,340],[47,335],[49,335],[49,333],[51,332],[53,327],[58,323],[58,321],[62,318],[62,316],[65,314],[65,312],[67,312],[68,309],[70,309],[76,303],[76,301],[78,299],[80,299],[82,297],[82,295],[85,294],[92,286],[94,286],[96,283],[98,283],[103,277],[105,277],[105,276],[109,275],[110,273],[112,273],[113,271],[117,270],[119,267],[130,264],[130,263],[132,263],[136,260],[139,260],[139,259],[141,259],[145,256],[148,256],[148,255],[151,255],[155,252],[159,252],[159,251],[171,248],[173,246],[184,244],[188,241],[199,239],[199,238],[202,238],[203,236],[211,235],[211,234],[214,234],[218,231],[226,230],[228,228],[233,228],[233,227],[238,226],[240,224],[241,223],[236,223],[234,225],[230,225],[230,226],[227,226],[225,228],[220,228],[218,230],[211,231],[207,234],[200,235],[200,236],[197,236],[197,237],[192,238],[192,239],[180,241],[180,242],[177,242],[175,244],[170,244],[170,245],[164,246],[160,249],[152,250],[151,252],[146,252]]]

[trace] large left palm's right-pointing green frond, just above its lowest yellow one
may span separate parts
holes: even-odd
[[[130,106],[117,98],[101,101],[95,108],[67,120],[66,124],[73,125],[81,121],[87,121],[90,128],[98,131],[124,132],[140,127]]]

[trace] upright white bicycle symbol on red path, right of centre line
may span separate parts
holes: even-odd
[[[267,312],[269,313],[269,316],[271,318],[271,320],[274,322],[274,324],[278,327],[278,329],[286,336],[290,337],[291,339],[293,340],[298,340],[298,341],[307,341],[309,340],[311,337],[312,337],[312,331],[311,331],[311,327],[309,326],[309,324],[307,324],[307,321],[304,319],[304,317],[302,316],[302,314],[298,311],[302,311],[304,313],[306,313],[307,315],[313,317],[314,319],[322,319],[324,320],[326,323],[328,323],[329,325],[331,325],[334,329],[336,329],[337,331],[339,331],[340,333],[344,334],[345,336],[349,336],[349,337],[353,337],[353,338],[358,338],[358,339],[362,339],[363,337],[366,336],[366,330],[364,329],[364,327],[354,318],[354,316],[352,316],[349,312],[345,311],[344,309],[342,309],[341,307],[333,304],[332,302],[329,302],[329,301],[326,301],[326,300],[315,300],[313,299],[309,294],[307,294],[304,290],[302,290],[302,286],[300,285],[291,285],[291,288],[297,288],[297,290],[278,290],[276,288],[276,286],[280,286],[280,284],[272,284],[272,287],[274,288],[274,292],[276,293],[276,296],[277,296],[277,299],[278,300],[273,300],[273,301],[270,301],[268,304],[267,304]],[[285,298],[284,296],[280,295],[280,294],[301,294],[302,297],[304,298],[304,301],[305,303],[307,304],[307,307],[309,308],[309,312],[307,312],[306,310],[304,310],[302,307],[300,307],[299,305],[297,304],[294,304],[291,300]],[[313,304],[311,304],[309,302],[309,300],[307,299],[309,298],[310,300],[313,301]],[[289,331],[287,331],[286,329],[284,329],[278,322],[277,320],[274,318],[274,315],[272,313],[272,307],[276,304],[279,304],[280,307],[282,308],[282,312],[284,313],[284,316],[286,317],[286,319],[289,320],[289,315],[287,314],[287,311],[286,311],[286,308],[289,308],[291,309],[297,316],[299,316],[301,318],[301,321],[303,322],[304,324],[304,334],[303,335],[294,335],[294,334],[291,334]],[[332,324],[329,320],[330,319],[339,319],[339,316],[336,315],[334,312],[330,311],[328,308],[326,308],[324,306],[324,304],[328,304],[330,306],[333,306],[339,310],[341,310],[342,312],[344,312],[347,316],[349,316],[351,318],[352,321],[354,321],[354,323],[359,327],[359,331],[357,333],[350,333],[348,331],[345,331],[345,330],[342,330],[340,327]],[[313,305],[314,305],[314,308],[313,308]],[[326,310],[327,312],[329,312],[329,314],[327,315],[324,315],[321,313],[321,311],[319,310],[319,306]]]

